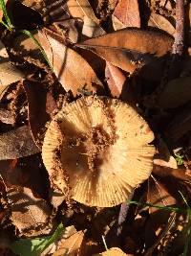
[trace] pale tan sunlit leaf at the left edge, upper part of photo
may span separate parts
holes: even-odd
[[[0,86],[6,86],[24,78],[22,72],[11,65],[5,46],[0,41]]]

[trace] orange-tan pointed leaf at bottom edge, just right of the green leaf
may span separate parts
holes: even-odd
[[[67,238],[60,248],[53,253],[53,256],[80,255],[80,246],[84,238],[84,232],[78,231],[71,237]]]

